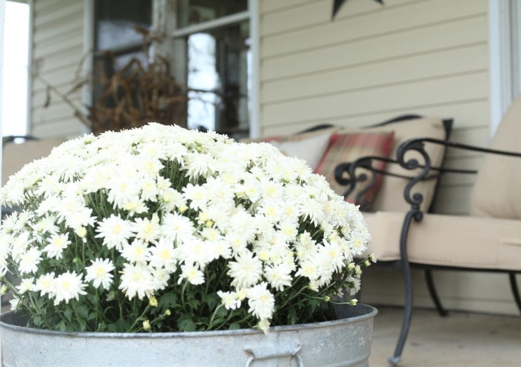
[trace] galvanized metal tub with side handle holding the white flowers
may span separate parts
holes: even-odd
[[[374,307],[339,308],[343,319],[187,333],[61,333],[0,315],[2,365],[13,366],[368,366]]]

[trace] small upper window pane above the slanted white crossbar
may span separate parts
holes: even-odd
[[[247,0],[179,0],[177,5],[177,28],[206,22],[247,9]]]

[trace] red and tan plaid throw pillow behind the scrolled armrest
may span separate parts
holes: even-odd
[[[340,163],[354,162],[361,157],[377,156],[387,158],[393,143],[393,136],[394,132],[392,131],[381,133],[333,134],[329,140],[326,153],[322,156],[315,172],[324,175],[334,192],[343,196],[347,188],[346,186],[340,185],[334,179],[334,169]],[[373,166],[379,170],[383,170],[386,163],[374,162]],[[357,173],[360,171],[357,170]],[[370,179],[371,175],[368,175],[368,182]],[[378,192],[381,181],[382,175],[377,174],[375,186],[366,192],[361,197],[359,203],[356,204],[362,204],[363,208],[367,210]],[[346,198],[346,201],[355,203],[356,196],[365,187],[365,183],[358,183],[356,189]]]

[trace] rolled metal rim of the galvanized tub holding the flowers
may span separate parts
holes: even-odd
[[[306,324],[282,325],[272,326],[269,332],[286,332],[298,331],[303,328],[322,328],[345,323],[355,323],[372,319],[378,313],[378,310],[373,306],[358,303],[356,306],[350,306],[351,309],[357,309],[358,315],[347,317],[333,321],[323,321]],[[193,331],[193,332],[165,332],[165,333],[107,333],[107,332],[61,332],[57,330],[38,329],[27,326],[18,326],[16,324],[8,323],[15,315],[15,311],[8,311],[0,314],[0,328],[7,328],[20,333],[44,334],[49,336],[67,336],[70,338],[196,338],[196,337],[212,337],[212,336],[226,336],[226,335],[252,335],[262,334],[263,332],[256,329],[237,329],[237,330],[217,330],[217,331]]]

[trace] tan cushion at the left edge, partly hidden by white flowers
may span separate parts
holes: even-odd
[[[64,138],[30,140],[26,143],[7,143],[2,150],[2,186],[9,176],[18,172],[27,163],[48,156],[51,150],[65,142]]]

